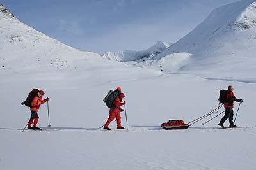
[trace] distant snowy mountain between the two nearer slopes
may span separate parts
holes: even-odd
[[[158,53],[163,52],[170,46],[169,43],[157,41],[155,45],[151,46],[147,50],[131,51],[125,50],[124,52],[106,52],[102,55],[103,58],[109,60],[117,60],[122,62],[136,61],[143,58],[152,58]]]

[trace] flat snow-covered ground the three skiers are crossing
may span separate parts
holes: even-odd
[[[52,78],[54,73],[33,74],[36,80],[28,74],[1,74],[5,80],[0,83],[1,169],[254,169],[255,128],[216,129],[218,117],[187,130],[160,129],[168,119],[189,122],[218,106],[218,90],[229,81],[189,74],[152,74],[131,80],[134,73],[123,78],[124,71],[119,71],[115,80],[106,75],[109,82],[100,83],[88,78],[92,72],[77,77],[73,77],[77,72],[66,73],[58,79]],[[244,99],[236,124],[256,125],[256,85],[232,84],[236,96]],[[102,98],[117,85],[127,94],[129,132],[98,129],[108,117]],[[50,97],[49,131],[21,132],[30,114],[20,101],[32,87],[45,90]],[[39,114],[40,127],[47,128],[46,105]],[[125,126],[124,113],[122,124]],[[110,127],[115,129],[116,122]]]

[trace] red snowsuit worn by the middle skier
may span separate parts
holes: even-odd
[[[104,125],[104,127],[108,127],[108,125],[115,118],[116,118],[116,121],[117,121],[117,127],[122,127],[120,111],[123,111],[123,110],[122,110],[122,108],[120,106],[123,106],[124,103],[122,103],[122,99],[120,99],[119,97],[116,97],[115,101],[113,102],[113,105],[115,106],[115,108],[110,108],[110,110],[109,110],[109,118],[108,118],[106,124]]]

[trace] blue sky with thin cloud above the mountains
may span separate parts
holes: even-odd
[[[175,43],[214,8],[237,0],[0,0],[15,17],[81,50],[143,50]]]

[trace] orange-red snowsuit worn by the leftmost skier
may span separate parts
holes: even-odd
[[[34,127],[37,127],[37,123],[38,123],[38,119],[39,119],[37,111],[39,110],[40,105],[45,103],[45,100],[46,99],[43,100],[42,97],[38,97],[38,96],[34,97],[32,103],[31,103],[31,108],[30,108],[31,117],[30,117],[30,120],[28,123],[28,127],[31,127],[33,122],[34,122]]]

